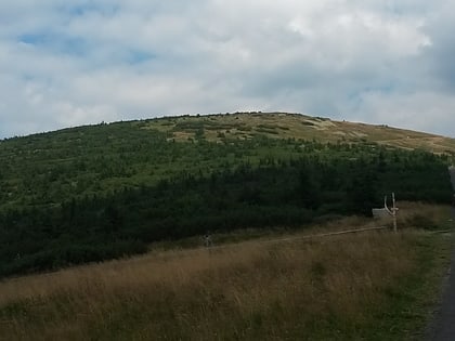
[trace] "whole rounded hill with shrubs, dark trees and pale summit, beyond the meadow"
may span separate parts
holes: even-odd
[[[172,117],[0,143],[0,275],[152,241],[450,202],[451,139],[289,114]]]

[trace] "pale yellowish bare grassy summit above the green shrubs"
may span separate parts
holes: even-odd
[[[178,141],[194,139],[195,122],[204,124],[209,141],[248,139],[257,134],[280,139],[307,139],[322,142],[376,142],[433,153],[455,153],[455,140],[424,132],[373,126],[285,113],[239,113],[232,115],[183,116],[147,121],[144,128],[170,133]]]

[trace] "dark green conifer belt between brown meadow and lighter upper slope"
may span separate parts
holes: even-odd
[[[399,200],[445,204],[452,197],[446,158],[422,150],[245,143],[250,157],[238,161],[176,168],[150,184],[2,210],[0,276],[141,253],[150,242],[207,231],[298,227],[333,214],[370,214],[391,192]],[[202,145],[217,150],[216,144]],[[269,153],[276,145],[284,147]]]

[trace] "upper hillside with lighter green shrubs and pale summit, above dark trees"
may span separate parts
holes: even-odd
[[[268,156],[288,159],[296,154],[286,147],[233,142],[252,136],[375,142],[455,155],[453,139],[297,114],[182,116],[78,127],[0,141],[0,210],[52,207],[74,196],[156,184],[182,170],[208,173],[225,163]],[[220,148],[199,148],[200,139],[219,143]],[[210,154],[218,149],[221,155]]]

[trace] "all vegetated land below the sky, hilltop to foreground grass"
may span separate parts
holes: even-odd
[[[0,340],[421,338],[454,155],[441,136],[261,113],[0,141]],[[400,233],[309,237],[390,226],[367,217],[391,192]]]

